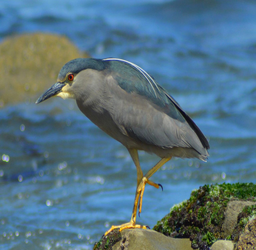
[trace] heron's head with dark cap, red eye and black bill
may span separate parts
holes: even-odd
[[[88,70],[89,69],[89,70]],[[65,64],[60,70],[57,82],[47,89],[35,102],[36,104],[52,97],[77,99],[89,92],[90,84],[98,72],[105,69],[101,59],[77,58]]]

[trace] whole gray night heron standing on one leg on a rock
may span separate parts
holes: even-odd
[[[119,58],[73,59],[61,68],[57,82],[36,104],[52,96],[75,99],[91,122],[127,148],[136,166],[131,220],[110,227],[105,235],[115,228],[148,228],[136,224],[145,185],[162,188],[149,178],[172,157],[208,159],[209,143],[195,122],[154,77],[132,62]],[[160,157],[146,174],[140,167],[140,150]]]

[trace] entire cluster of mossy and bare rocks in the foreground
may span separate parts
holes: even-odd
[[[255,197],[252,183],[204,185],[157,223],[159,233],[114,230],[94,249],[256,249]]]

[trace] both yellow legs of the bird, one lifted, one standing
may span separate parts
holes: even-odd
[[[155,188],[159,188],[159,185],[154,183],[153,181],[148,180],[163,164],[165,164],[167,161],[171,159],[170,158],[162,158],[153,168],[151,168],[144,176],[142,169],[140,168],[140,162],[139,162],[139,156],[138,151],[136,149],[128,149],[132,160],[136,166],[137,169],[137,189],[135,194],[135,200],[133,204],[132,209],[132,218],[130,222],[122,224],[120,226],[112,226],[108,231],[105,232],[105,236],[109,234],[109,232],[113,231],[115,228],[119,228],[119,231],[122,231],[126,228],[144,228],[146,229],[146,226],[141,226],[138,224],[135,224],[136,222],[136,215],[137,215],[137,208],[139,203],[139,213],[141,213],[142,208],[142,197],[145,189],[145,185],[148,183],[151,186],[154,186]]]

